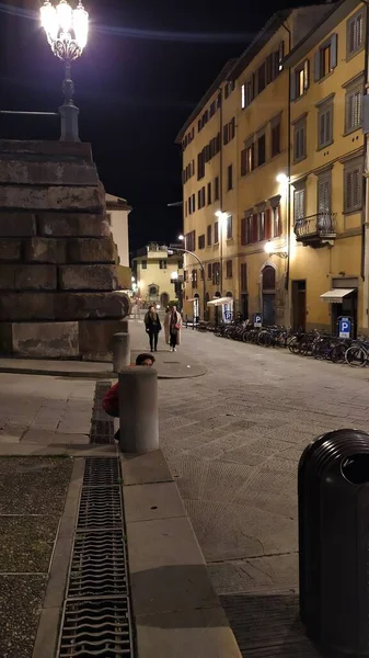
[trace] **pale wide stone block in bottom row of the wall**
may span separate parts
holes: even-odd
[[[78,356],[78,322],[13,324],[13,354],[36,359]]]

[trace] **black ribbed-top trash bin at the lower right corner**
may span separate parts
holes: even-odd
[[[299,462],[300,614],[328,655],[369,656],[369,434],[328,432]]]

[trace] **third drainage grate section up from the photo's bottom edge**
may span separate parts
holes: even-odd
[[[82,489],[78,530],[112,530],[123,524],[119,487]]]

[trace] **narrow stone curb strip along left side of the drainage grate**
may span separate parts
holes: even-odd
[[[83,469],[84,460],[76,458],[54,546],[43,609],[32,655],[33,658],[50,658],[51,656],[56,656]]]

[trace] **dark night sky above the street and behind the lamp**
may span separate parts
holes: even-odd
[[[26,9],[10,14],[0,2],[0,61],[7,57],[0,109],[54,112],[62,102],[62,64],[35,20],[37,0],[13,4]],[[281,0],[278,9],[287,4],[302,3]],[[181,207],[166,207],[182,200],[175,136],[227,59],[242,53],[277,5],[210,0],[85,0],[84,5],[89,44],[72,68],[81,139],[92,144],[106,191],[134,207],[130,250],[148,240],[173,241],[182,227]],[[51,117],[0,122],[1,137],[59,137]]]

